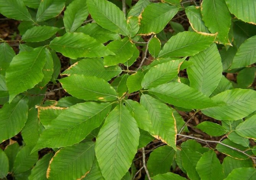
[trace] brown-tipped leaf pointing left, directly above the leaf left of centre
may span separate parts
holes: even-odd
[[[85,58],[71,65],[62,75],[72,76],[75,74],[85,76],[96,76],[105,81],[111,80],[113,77],[122,72],[119,66],[104,67],[103,59],[101,58]]]

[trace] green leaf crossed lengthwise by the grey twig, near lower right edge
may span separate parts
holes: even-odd
[[[246,151],[247,154],[250,153],[250,151],[248,151],[249,147],[243,147],[241,145],[231,142],[229,139],[225,139],[221,143],[224,143],[225,145],[228,145],[230,147],[236,148],[236,149],[244,151],[244,152]],[[227,146],[224,146],[222,144],[217,144],[216,148],[219,152],[221,152],[225,155],[228,155],[232,158],[235,158],[235,159],[248,159],[249,158],[244,153],[235,151],[235,150],[233,150]]]

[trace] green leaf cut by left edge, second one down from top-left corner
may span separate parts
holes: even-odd
[[[0,73],[2,75],[5,75],[5,71],[9,67],[14,56],[15,52],[8,43],[0,44]]]

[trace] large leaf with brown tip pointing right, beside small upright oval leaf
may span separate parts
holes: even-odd
[[[208,48],[215,37],[214,34],[208,33],[180,32],[165,43],[158,57],[193,56]]]

